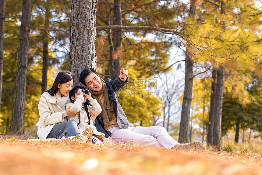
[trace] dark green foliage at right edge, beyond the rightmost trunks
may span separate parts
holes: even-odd
[[[246,85],[248,103],[239,101],[239,98],[225,94],[223,97],[222,111],[222,135],[235,127],[237,117],[240,118],[240,129],[251,128],[256,131],[262,130],[262,88],[261,77],[253,77],[253,82]]]

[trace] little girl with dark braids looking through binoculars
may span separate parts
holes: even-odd
[[[96,99],[93,99],[91,93],[83,93],[81,90],[86,89],[82,86],[75,86],[69,92],[69,98],[72,103],[66,104],[66,108],[76,113],[74,116],[68,116],[68,120],[75,120],[80,133],[86,137],[88,142],[93,144],[113,144],[112,140],[104,137],[104,133],[98,132],[94,126],[94,118],[90,118],[89,112],[91,111],[94,116],[101,113],[102,108],[98,104]],[[90,101],[90,105],[87,105],[87,99]],[[103,141],[103,142],[102,142]]]

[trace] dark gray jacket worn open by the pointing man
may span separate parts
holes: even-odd
[[[108,89],[108,96],[110,99],[112,99],[112,102],[113,102],[116,122],[121,129],[126,129],[131,126],[117,98],[117,92],[123,86],[125,86],[127,82],[128,82],[128,77],[126,77],[125,82],[122,82],[119,77],[116,78],[115,80],[111,80],[109,78],[105,80],[105,84]],[[89,101],[87,103],[89,104]],[[110,136],[111,132],[104,130],[104,122],[103,122],[103,118],[101,114],[99,114],[96,117],[94,125],[97,127],[97,131],[105,134],[105,137]]]

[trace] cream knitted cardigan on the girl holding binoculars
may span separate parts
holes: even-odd
[[[78,95],[74,104],[73,103],[66,104],[66,108],[69,108],[70,106],[70,110],[77,112],[76,115],[68,117],[68,120],[75,120],[76,123],[78,123],[79,122],[79,119],[78,119],[79,113],[78,112],[80,112],[80,121],[81,122],[78,125],[78,129],[80,133],[82,133],[88,126],[94,126],[92,119],[90,119],[90,125],[88,125],[89,120],[87,118],[87,112],[84,108],[82,108],[83,101],[84,101],[84,97],[81,95]],[[88,112],[89,111],[93,112],[95,116],[100,114],[100,112],[102,111],[102,108],[98,104],[97,100],[94,99],[93,101],[90,102],[90,104],[92,106],[87,105]],[[104,133],[98,132],[95,126],[94,126],[94,134],[104,136]]]

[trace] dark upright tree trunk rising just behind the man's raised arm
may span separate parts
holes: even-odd
[[[121,12],[120,0],[115,0],[114,5],[115,5],[115,9],[114,9],[115,25],[122,26],[122,12]],[[115,38],[116,38],[115,52],[119,53],[122,51],[122,42],[123,42],[123,32],[121,29],[115,30]],[[121,54],[118,57],[113,56],[113,58],[114,58],[114,74],[111,75],[111,77],[115,79],[119,76],[119,71],[121,69]]]

